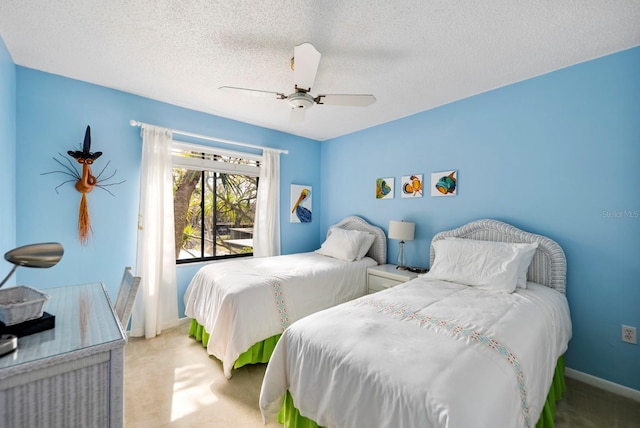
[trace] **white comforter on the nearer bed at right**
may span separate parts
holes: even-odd
[[[570,337],[553,289],[417,278],[289,327],[260,408],[273,420],[289,390],[326,427],[533,427]]]

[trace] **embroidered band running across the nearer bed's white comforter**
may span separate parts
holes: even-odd
[[[524,381],[524,372],[520,366],[518,357],[509,350],[505,345],[498,340],[480,334],[479,332],[465,328],[455,321],[432,317],[430,315],[422,315],[417,313],[416,309],[408,308],[404,305],[394,304],[384,300],[373,299],[360,299],[355,302],[356,305],[371,306],[379,312],[394,316],[401,320],[411,321],[416,320],[419,322],[420,327],[428,327],[432,329],[444,330],[454,336],[463,336],[469,338],[471,341],[484,345],[485,347],[494,350],[500,356],[502,356],[507,363],[515,371],[516,379],[518,381],[518,389],[520,392],[520,410],[526,427],[531,426],[531,418],[529,416],[529,404],[527,402],[527,389]]]

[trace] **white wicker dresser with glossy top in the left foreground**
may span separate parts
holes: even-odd
[[[0,357],[0,427],[122,427],[126,336],[104,286],[41,291],[55,328]]]

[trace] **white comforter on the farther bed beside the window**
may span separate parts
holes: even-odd
[[[210,334],[207,351],[225,375],[252,345],[292,322],[366,293],[373,259],[346,262],[314,252],[243,258],[201,268],[184,295],[185,314]]]

